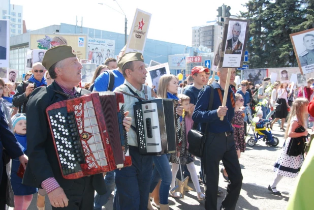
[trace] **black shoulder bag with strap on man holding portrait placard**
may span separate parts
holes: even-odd
[[[214,100],[214,88],[212,85],[209,85],[209,86],[211,87],[211,90],[210,90],[210,98],[209,98],[207,110],[212,109],[212,103]],[[189,139],[189,152],[196,157],[202,158],[204,154],[206,131],[207,131],[208,123],[206,123],[205,133],[202,133],[201,131],[196,130],[197,126],[198,126],[198,123],[194,123],[193,128],[189,131],[189,133],[187,133],[187,139]]]

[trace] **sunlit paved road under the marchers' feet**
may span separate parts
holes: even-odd
[[[242,153],[240,164],[243,174],[243,184],[236,209],[283,210],[286,208],[290,192],[295,183],[295,178],[284,177],[278,184],[277,188],[282,192],[282,196],[272,195],[267,190],[268,185],[271,184],[274,178],[272,166],[280,154],[280,149],[284,144],[284,132],[279,131],[277,124],[275,124],[273,128],[274,135],[280,140],[278,146],[266,146],[265,142],[260,141],[254,147],[247,146],[245,153]],[[252,131],[250,131],[250,134],[252,135]],[[199,171],[200,161],[195,161],[195,164],[197,167],[196,170]],[[222,164],[221,167],[223,167]],[[189,183],[189,186],[194,189],[193,183]],[[219,187],[222,188],[225,194],[227,183],[224,181],[222,176],[219,177]],[[201,186],[201,189],[204,190],[203,185]],[[34,195],[32,204],[28,209],[37,209],[36,198],[37,195]],[[112,198],[113,196],[110,197],[106,207],[103,207],[103,209],[112,209]],[[218,197],[217,209],[219,209],[223,198],[224,195]],[[48,201],[46,202],[46,210],[50,210],[51,207],[49,206]],[[169,197],[169,204],[171,209],[204,209],[204,201],[197,200],[197,193],[195,191],[186,192],[184,199],[174,199]],[[13,210],[13,208],[10,209]]]

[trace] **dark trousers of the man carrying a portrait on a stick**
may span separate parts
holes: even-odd
[[[225,199],[222,205],[226,210],[233,210],[242,187],[242,173],[235,149],[233,134],[226,137],[225,133],[207,133],[202,167],[206,182],[205,209],[217,209],[217,190],[219,180],[219,161],[223,161],[228,173],[228,184]]]

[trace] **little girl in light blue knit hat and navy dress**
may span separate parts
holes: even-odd
[[[26,142],[26,115],[15,114],[12,117],[12,125],[17,141],[25,154],[27,154]],[[17,175],[20,161],[18,159],[12,160],[11,169],[11,184],[14,192],[14,210],[26,210],[33,199],[33,194],[37,192],[37,188],[29,187],[22,184],[22,178]]]

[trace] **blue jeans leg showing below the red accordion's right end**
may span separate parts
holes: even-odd
[[[109,199],[112,191],[115,188],[114,171],[109,171],[106,173],[105,184],[107,187],[107,192],[104,195],[98,195],[96,193],[96,196],[94,199],[94,210],[102,210],[102,206],[106,205],[106,203],[108,202],[108,199]]]

